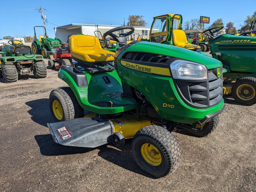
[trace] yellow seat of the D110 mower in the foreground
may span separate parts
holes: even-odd
[[[87,66],[102,66],[114,60],[114,53],[102,49],[99,39],[91,35],[70,36],[69,47],[73,59]]]

